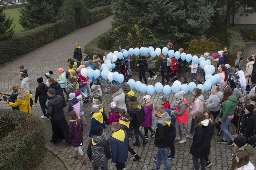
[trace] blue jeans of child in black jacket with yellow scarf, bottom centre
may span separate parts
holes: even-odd
[[[156,151],[156,169],[160,169],[161,162],[163,160],[163,165],[165,165],[166,170],[171,170],[170,164],[168,161],[167,148],[157,148]]]

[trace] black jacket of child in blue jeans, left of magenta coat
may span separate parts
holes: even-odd
[[[133,127],[139,127],[143,123],[143,117],[144,117],[144,108],[141,105],[141,109],[131,109],[130,110],[130,116],[131,116],[131,121],[130,124]]]

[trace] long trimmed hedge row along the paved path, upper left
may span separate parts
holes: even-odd
[[[109,12],[110,5],[88,10],[81,0],[67,0],[65,3],[67,4],[59,11],[61,19],[56,23],[45,24],[44,26],[15,34],[9,40],[0,41],[0,65],[15,60],[20,55],[60,38],[72,32],[78,26],[86,27],[111,15]],[[70,6],[71,4],[72,6]],[[78,19],[76,13],[79,16]]]

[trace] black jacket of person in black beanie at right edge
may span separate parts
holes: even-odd
[[[243,116],[242,124],[241,124],[240,128],[241,128],[241,133],[243,133],[243,134],[244,134],[244,131],[246,129],[247,134],[244,134],[244,135],[247,139],[254,135],[255,118],[254,118],[253,113],[245,114]]]

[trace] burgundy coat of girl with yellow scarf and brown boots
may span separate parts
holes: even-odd
[[[83,139],[83,122],[79,118],[80,128],[79,131],[79,122],[76,119],[69,120],[69,138],[71,139],[71,143],[73,147],[82,146],[84,143]]]

